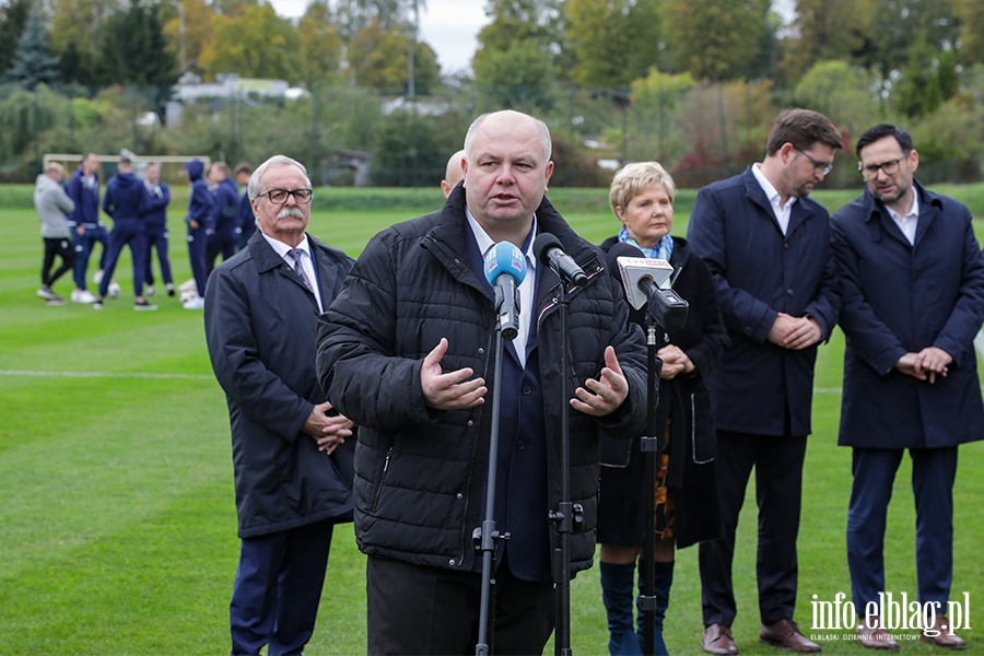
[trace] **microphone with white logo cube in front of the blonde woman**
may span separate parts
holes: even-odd
[[[671,289],[661,289],[673,272],[666,260],[641,257],[631,244],[616,244],[608,251],[608,266],[621,273],[625,297],[635,309],[648,303],[648,315],[664,328],[678,329],[687,323],[690,304]]]

